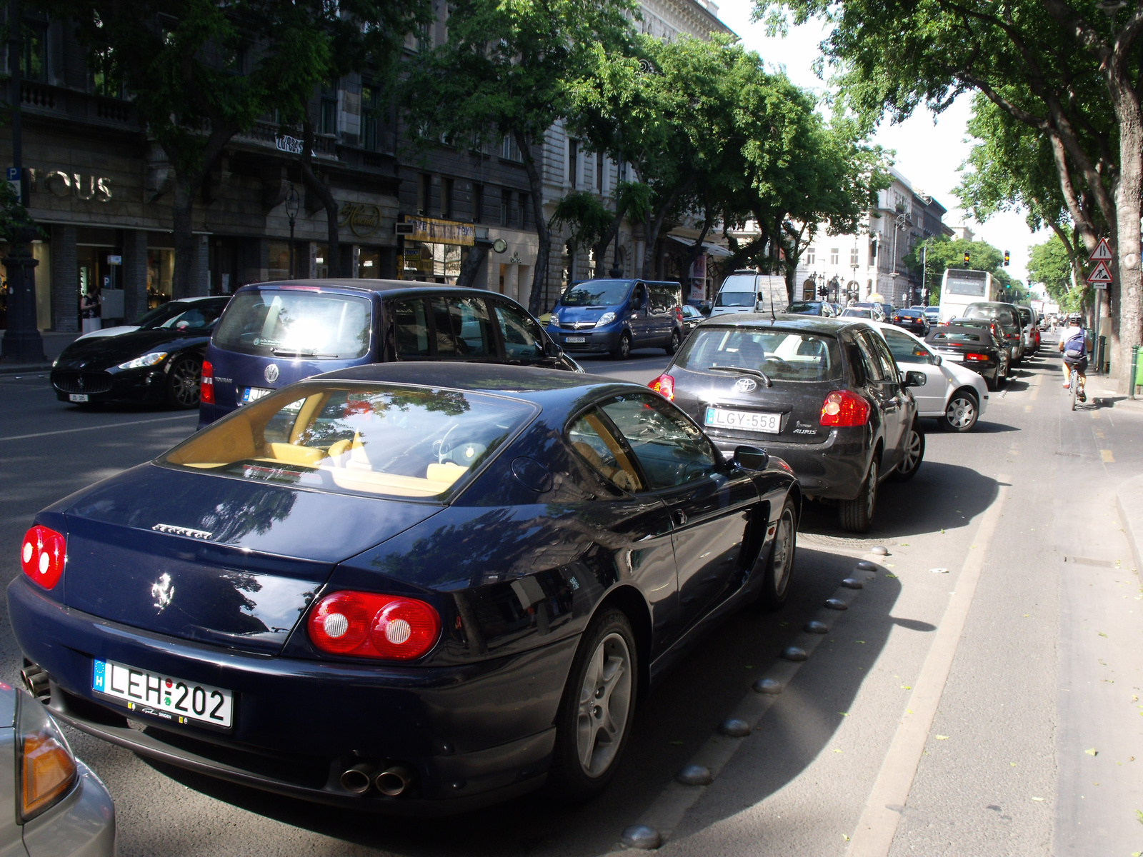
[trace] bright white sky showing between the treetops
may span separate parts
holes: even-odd
[[[814,61],[821,54],[822,26],[812,21],[804,26],[791,27],[785,38],[769,38],[762,24],[750,21],[752,6],[750,0],[722,0],[719,18],[738,34],[749,49],[757,50],[768,66],[784,70],[790,80],[800,87],[824,91],[825,82],[813,71]],[[1021,211],[1001,213],[978,224],[957,207],[958,200],[952,190],[960,184],[960,165],[972,149],[967,131],[970,112],[969,96],[961,96],[940,117],[920,110],[901,125],[884,123],[872,142],[894,150],[897,171],[909,179],[914,190],[924,191],[949,209],[944,216],[948,225],[966,224],[977,239],[988,241],[1001,253],[1008,250],[1012,254],[1008,272],[1026,282],[1028,248],[1046,241],[1050,230],[1033,235]]]

